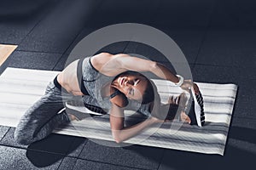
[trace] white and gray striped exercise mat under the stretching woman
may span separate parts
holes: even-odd
[[[16,127],[20,117],[44,94],[47,84],[57,74],[58,71],[7,68],[0,76],[0,125]],[[153,81],[164,103],[168,96],[178,95],[181,92],[179,88],[172,87],[172,82]],[[190,126],[182,122],[166,122],[160,128],[150,127],[125,142],[138,144],[140,141],[139,144],[142,145],[224,155],[237,87],[235,84],[201,82],[197,84],[204,98],[206,114],[204,127]],[[129,115],[129,111],[126,113]],[[137,116],[131,114],[128,120],[132,122],[135,118]],[[108,115],[97,117],[95,121],[88,119],[74,121],[65,127],[56,129],[55,133],[113,141],[111,133],[106,129],[110,129]],[[149,138],[141,140],[144,135],[152,132]]]

